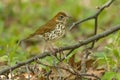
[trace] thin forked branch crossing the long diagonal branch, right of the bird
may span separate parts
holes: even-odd
[[[96,34],[97,34],[97,28],[98,28],[98,17],[99,17],[99,14],[100,14],[105,8],[109,7],[109,6],[112,4],[113,1],[115,1],[115,0],[109,0],[109,1],[106,2],[103,6],[98,7],[98,8],[97,8],[98,11],[97,11],[94,15],[92,15],[92,16],[86,18],[86,19],[83,19],[83,20],[80,20],[80,21],[77,21],[77,22],[73,23],[73,25],[70,27],[70,30],[71,30],[73,27],[75,27],[75,25],[78,25],[78,24],[83,23],[83,22],[85,22],[85,21],[94,19],[94,35],[96,35]],[[88,55],[90,54],[90,52],[88,51],[88,49],[94,48],[95,42],[96,42],[96,40],[92,42],[92,45],[91,45],[90,47],[88,47],[88,48],[85,49],[85,50],[86,50],[86,51],[85,51],[85,55],[82,57],[82,60],[81,60],[81,65],[82,65],[82,66],[81,66],[81,72],[83,72],[83,73],[86,71],[86,64],[85,64],[85,63],[86,63],[87,57],[85,57],[85,56],[88,56]]]

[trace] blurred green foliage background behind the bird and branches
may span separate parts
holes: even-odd
[[[98,6],[108,0],[0,0],[0,61],[14,65],[17,61],[28,59],[32,53],[39,53],[40,45],[34,45],[24,51],[16,44],[33,33],[40,25],[62,11],[74,18],[82,20],[93,15]],[[71,24],[71,23],[70,23]],[[98,19],[98,33],[120,24],[120,1],[105,9]],[[68,26],[69,28],[69,26]],[[84,22],[77,29],[68,31],[67,36],[56,45],[72,45],[94,32],[94,20]],[[71,41],[71,44],[68,43]],[[106,37],[96,43],[94,56],[99,66],[108,63],[110,70],[120,68],[120,32]],[[119,74],[120,75],[120,74]]]

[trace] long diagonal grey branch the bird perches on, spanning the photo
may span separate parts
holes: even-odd
[[[52,53],[52,54],[56,54],[56,53],[59,53],[60,51],[65,51],[65,50],[71,50],[71,49],[74,50],[74,49],[77,49],[77,48],[79,48],[79,47],[81,47],[81,46],[83,46],[83,45],[86,45],[86,44],[88,44],[88,43],[90,43],[90,42],[93,42],[93,41],[95,41],[95,40],[104,38],[104,37],[106,37],[106,36],[108,36],[108,35],[110,35],[110,34],[112,34],[112,33],[114,33],[114,32],[119,31],[119,30],[120,30],[120,24],[117,25],[117,26],[113,26],[112,28],[110,28],[110,29],[108,29],[108,30],[106,30],[106,31],[104,31],[104,32],[102,32],[102,33],[100,33],[100,34],[97,34],[97,35],[95,35],[95,36],[92,36],[92,37],[90,37],[90,38],[88,38],[88,39],[86,39],[86,40],[84,40],[84,41],[82,41],[82,42],[79,42],[79,43],[75,44],[75,45],[71,45],[71,46],[67,46],[67,47],[62,47],[62,48],[56,50],[56,51],[55,51],[54,53]],[[5,69],[3,69],[3,70],[0,71],[0,75],[5,74],[5,73],[7,73],[7,72],[10,72],[10,70],[13,71],[13,70],[15,70],[16,68],[19,68],[19,67],[21,67],[21,66],[23,66],[23,65],[25,65],[25,64],[29,64],[29,63],[35,61],[35,60],[38,59],[38,58],[39,58],[39,59],[42,59],[42,58],[45,58],[45,57],[47,57],[47,56],[50,56],[49,53],[50,53],[50,52],[44,52],[44,53],[42,53],[42,54],[39,54],[39,55],[37,55],[37,56],[35,56],[35,57],[32,57],[32,58],[28,59],[27,61],[20,62],[20,63],[14,65],[14,66],[12,66],[12,67],[7,67],[7,68],[5,68]]]

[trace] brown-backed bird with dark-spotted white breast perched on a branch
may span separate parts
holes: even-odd
[[[65,12],[58,12],[51,20],[40,26],[34,33],[30,34],[22,41],[34,36],[42,37],[45,42],[52,42],[63,37],[66,33],[66,24],[69,16]]]

